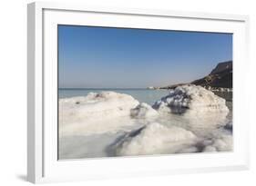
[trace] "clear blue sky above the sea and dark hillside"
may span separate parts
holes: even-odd
[[[232,34],[58,25],[61,88],[189,83],[232,59]]]

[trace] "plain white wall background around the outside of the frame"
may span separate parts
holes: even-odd
[[[26,4],[27,0],[2,0],[0,4],[0,185],[26,182]],[[75,2],[73,0],[73,2]],[[170,175],[108,181],[61,183],[64,185],[255,185],[256,184],[256,5],[253,0],[84,0],[88,5],[136,7],[250,15],[251,64],[251,171]],[[241,77],[242,78],[242,77]],[[241,98],[242,99],[242,98]],[[243,108],[241,108],[243,109]]]

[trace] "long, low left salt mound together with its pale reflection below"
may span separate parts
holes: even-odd
[[[114,92],[60,99],[60,135],[108,132],[132,124],[130,110],[137,105],[132,96]]]

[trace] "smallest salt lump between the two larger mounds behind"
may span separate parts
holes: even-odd
[[[159,113],[147,103],[139,103],[138,106],[130,111],[134,118],[145,119],[159,116]]]

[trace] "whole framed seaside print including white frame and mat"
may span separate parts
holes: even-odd
[[[247,169],[248,20],[28,5],[28,181]]]

